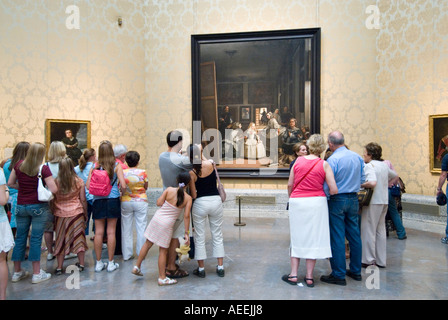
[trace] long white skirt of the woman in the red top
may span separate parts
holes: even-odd
[[[326,197],[289,198],[289,229],[291,257],[331,258]]]

